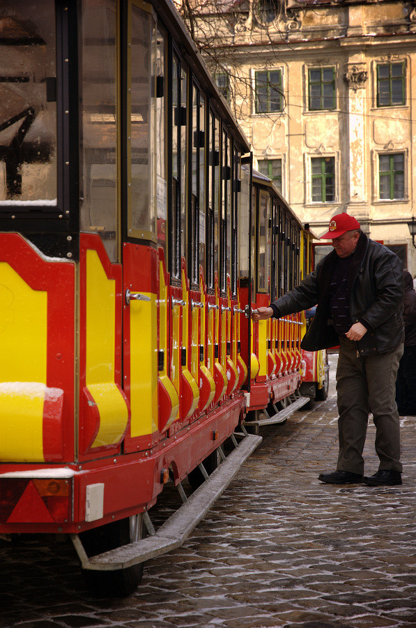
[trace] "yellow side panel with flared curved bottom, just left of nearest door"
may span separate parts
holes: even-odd
[[[100,412],[93,447],[121,440],[128,408],[114,383],[116,282],[108,279],[96,251],[86,252],[86,387]]]

